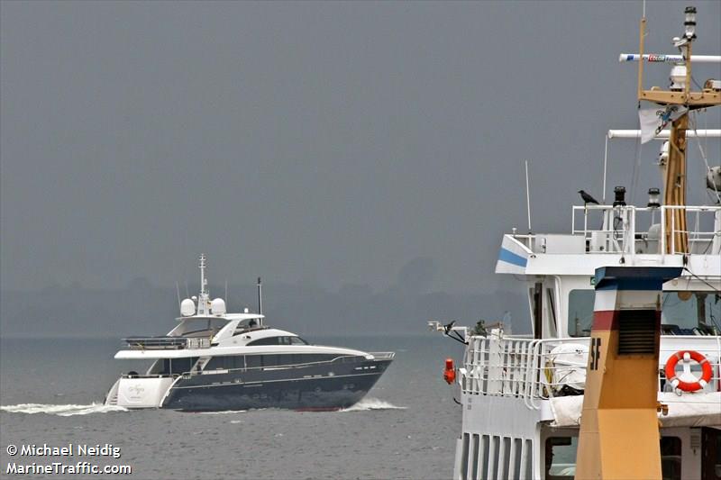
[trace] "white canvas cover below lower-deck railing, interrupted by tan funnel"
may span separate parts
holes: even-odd
[[[721,425],[721,392],[681,394],[659,392],[659,402],[669,405],[669,414],[659,413],[663,427],[710,427]],[[578,427],[583,395],[551,399],[553,427]]]

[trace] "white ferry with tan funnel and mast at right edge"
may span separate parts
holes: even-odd
[[[622,57],[673,65],[668,92],[643,90],[639,65],[639,100],[671,126],[651,132],[663,192],[634,206],[618,186],[612,204],[573,206],[570,233],[504,235],[496,273],[525,280],[531,335],[429,322],[467,345],[444,374],[462,414],[454,478],[721,478],[721,168],[692,179],[713,204],[685,201],[687,141],[721,136],[689,130],[688,112],[721,88],[690,90],[695,14],[680,58],[644,56],[645,20],[640,53]]]

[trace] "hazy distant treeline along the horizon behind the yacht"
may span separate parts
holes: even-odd
[[[197,285],[190,285],[196,294]],[[224,285],[210,285],[211,296],[225,296]],[[181,297],[186,296],[185,285]],[[228,311],[257,312],[255,285],[229,285]],[[473,326],[480,319],[500,321],[511,313],[516,333],[530,330],[528,307],[520,293],[419,293],[392,287],[373,292],[369,285],[263,285],[263,309],[270,325],[299,335],[420,334],[427,320]],[[123,289],[52,286],[34,292],[0,292],[0,336],[123,337],[162,335],[178,317],[176,288],[157,287],[144,278]]]

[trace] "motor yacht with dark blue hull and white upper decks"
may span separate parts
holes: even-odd
[[[180,303],[178,326],[163,337],[130,337],[115,358],[150,363],[123,374],[105,404],[203,412],[253,408],[338,410],[368,393],[393,352],[311,345],[270,328],[259,312],[226,312],[211,300],[199,259],[201,292]]]

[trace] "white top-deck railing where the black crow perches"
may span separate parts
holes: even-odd
[[[687,228],[676,225],[675,210],[687,213]],[[600,213],[600,214],[598,214]],[[671,215],[670,230],[666,217]],[[580,219],[579,219],[580,217]],[[598,224],[598,228],[592,225]],[[645,229],[640,225],[646,225]],[[663,205],[661,207],[636,207],[633,205],[574,205],[571,214],[571,234],[586,239],[586,251],[590,253],[657,253],[665,255],[667,242],[671,254],[721,253],[721,206],[716,205]],[[689,239],[689,252],[676,245],[677,233],[685,233]],[[543,253],[544,246],[528,246]]]

